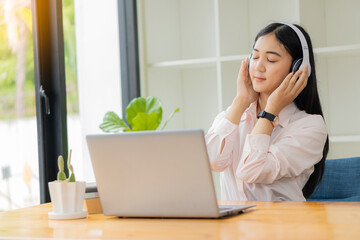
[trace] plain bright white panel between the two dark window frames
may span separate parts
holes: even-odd
[[[107,111],[121,114],[118,7],[116,0],[74,0],[74,8],[83,147],[73,151],[82,150],[78,178],[95,181],[85,136],[101,133]]]

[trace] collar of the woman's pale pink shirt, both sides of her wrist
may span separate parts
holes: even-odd
[[[256,119],[256,107],[257,107],[257,101],[250,104],[250,106],[245,110],[243,116],[241,117],[241,121],[245,121],[246,119],[254,117]],[[298,108],[296,107],[294,102],[291,102],[286,107],[283,108],[283,110],[280,111],[278,119],[279,119],[279,125],[282,127],[286,127],[289,124],[290,118],[294,114],[294,112]]]

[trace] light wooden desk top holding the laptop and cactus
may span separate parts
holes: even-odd
[[[227,202],[228,204],[233,204]],[[0,239],[360,239],[360,202],[256,204],[226,219],[49,220],[51,204],[0,213]]]

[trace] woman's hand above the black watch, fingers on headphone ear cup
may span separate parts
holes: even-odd
[[[300,75],[301,74],[301,75]],[[299,77],[300,76],[300,77]],[[280,86],[269,96],[265,111],[278,116],[280,111],[293,102],[306,87],[308,81],[308,66],[304,70],[289,73]]]

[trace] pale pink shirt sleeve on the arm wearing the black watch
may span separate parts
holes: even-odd
[[[313,115],[299,121],[275,144],[270,144],[269,135],[248,134],[236,176],[247,183],[272,184],[318,163],[327,138],[324,120]]]

